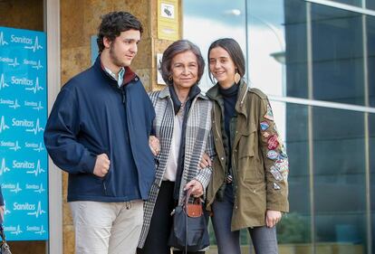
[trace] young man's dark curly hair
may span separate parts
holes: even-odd
[[[103,15],[99,26],[98,38],[96,39],[99,52],[104,49],[104,37],[107,37],[112,42],[116,37],[120,36],[121,32],[131,29],[139,31],[140,34],[143,33],[142,24],[134,15],[127,12],[112,12]]]

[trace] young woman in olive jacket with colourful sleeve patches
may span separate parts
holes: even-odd
[[[213,42],[208,61],[210,79],[216,80],[207,97],[214,101],[217,156],[207,209],[213,212],[218,253],[241,253],[241,229],[249,230],[256,254],[277,253],[275,225],[289,209],[288,161],[270,103],[243,80],[245,59],[235,40]]]

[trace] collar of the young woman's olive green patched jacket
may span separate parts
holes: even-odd
[[[239,83],[238,96],[237,96],[235,108],[236,108],[236,112],[244,115],[245,118],[247,118],[247,111],[246,111],[247,100],[245,99],[247,91],[248,91],[247,84],[245,83],[244,80],[241,79]],[[216,101],[219,101],[222,98],[219,92],[219,84],[216,83],[214,87],[212,87],[211,89],[207,91],[206,95],[209,99],[214,99]]]

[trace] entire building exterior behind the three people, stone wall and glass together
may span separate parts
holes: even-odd
[[[197,43],[206,61],[210,42],[236,39],[245,80],[271,100],[290,164],[280,253],[375,253],[375,0],[2,0],[0,26],[46,33],[51,107],[91,65],[91,36],[114,10],[144,24],[133,69],[159,89],[156,55],[172,42],[159,38],[160,2],[176,6],[178,38]],[[207,73],[200,86],[212,86]],[[66,180],[50,163],[49,240],[11,242],[14,253],[73,253]],[[241,244],[254,253],[245,230]]]

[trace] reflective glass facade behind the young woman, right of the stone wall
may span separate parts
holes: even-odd
[[[280,252],[375,253],[375,1],[191,0],[183,10],[184,38],[204,54],[235,38],[246,80],[271,99],[290,164]]]

